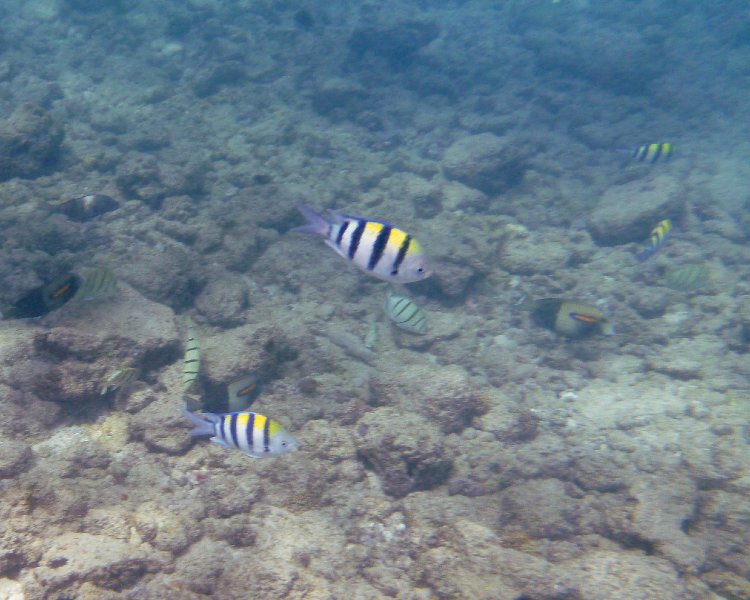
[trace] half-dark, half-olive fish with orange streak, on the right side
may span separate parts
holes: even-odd
[[[562,298],[543,298],[531,306],[537,324],[569,338],[584,338],[595,333],[614,335],[614,327],[598,308]]]

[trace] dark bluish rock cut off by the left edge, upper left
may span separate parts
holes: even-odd
[[[0,181],[35,177],[49,170],[64,136],[62,126],[40,106],[17,108],[0,122]]]

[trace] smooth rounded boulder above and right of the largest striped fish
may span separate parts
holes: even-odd
[[[451,144],[443,157],[443,171],[448,179],[496,196],[520,183],[528,154],[526,141],[480,133]]]

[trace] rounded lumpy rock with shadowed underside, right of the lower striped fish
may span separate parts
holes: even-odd
[[[380,477],[383,491],[396,497],[443,483],[452,467],[442,434],[414,413],[381,407],[356,427],[358,452]]]

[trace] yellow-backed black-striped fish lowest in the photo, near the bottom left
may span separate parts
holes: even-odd
[[[237,448],[253,458],[281,456],[297,449],[297,440],[277,421],[252,412],[202,413],[183,410],[195,425],[190,435],[210,435],[212,442]]]

